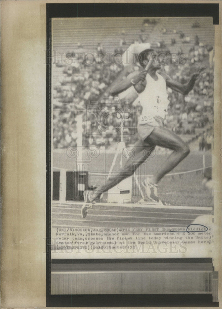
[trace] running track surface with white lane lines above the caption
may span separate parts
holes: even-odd
[[[93,205],[88,209],[86,218],[81,216],[83,204],[57,204],[52,205],[52,227],[186,227],[200,215],[212,214],[209,210],[200,207],[166,206],[157,208],[127,207],[115,205]]]

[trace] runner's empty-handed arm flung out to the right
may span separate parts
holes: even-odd
[[[193,89],[196,80],[200,76],[200,73],[204,69],[205,69],[205,67],[200,67],[197,70],[197,72],[194,73],[191,76],[189,82],[186,83],[186,84],[181,84],[181,83],[173,80],[171,77],[169,77],[169,75],[167,75],[164,72],[160,72],[159,74],[161,74],[163,76],[163,78],[165,79],[167,87],[171,88],[172,90],[180,92],[182,95],[188,95],[188,93]]]

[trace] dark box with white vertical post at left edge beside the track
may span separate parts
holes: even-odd
[[[53,170],[53,201],[84,201],[88,188],[88,171]]]

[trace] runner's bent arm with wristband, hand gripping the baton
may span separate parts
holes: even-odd
[[[122,80],[121,83],[118,83],[113,86],[113,88],[110,90],[110,95],[115,96],[121,93],[122,91],[125,91],[126,89],[130,88],[131,86],[138,85],[140,81],[144,81],[147,75],[147,71],[143,70],[140,72],[132,72],[130,73],[126,79]]]

